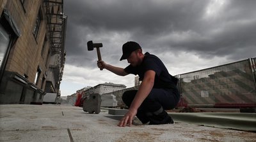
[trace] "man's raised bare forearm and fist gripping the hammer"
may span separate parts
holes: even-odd
[[[104,61],[98,61],[97,65],[99,68],[106,68],[110,72],[113,72],[116,75],[125,76],[128,75],[127,72],[125,72],[124,68],[115,67],[113,65],[109,65],[105,63]]]

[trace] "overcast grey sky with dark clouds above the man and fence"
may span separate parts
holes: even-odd
[[[158,56],[172,75],[256,57],[255,0],[64,0],[67,51],[61,96],[101,83],[134,86],[134,75],[120,77],[97,67],[119,61],[122,45],[138,42]]]

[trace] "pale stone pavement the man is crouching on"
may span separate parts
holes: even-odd
[[[191,123],[118,127],[108,111],[63,105],[0,105],[0,141],[256,141],[255,132]]]

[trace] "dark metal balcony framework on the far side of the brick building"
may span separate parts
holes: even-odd
[[[50,63],[49,69],[54,74],[52,88],[56,93],[60,90],[63,68],[65,64],[65,32],[67,16],[63,14],[63,0],[44,0],[45,15],[47,17],[48,37],[50,40],[51,58],[57,61]]]

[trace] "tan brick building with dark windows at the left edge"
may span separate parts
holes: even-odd
[[[60,95],[67,16],[63,0],[0,0],[0,104]]]

